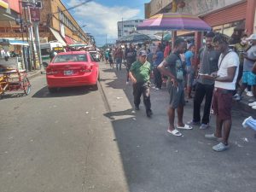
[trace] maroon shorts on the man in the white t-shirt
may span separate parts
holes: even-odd
[[[214,88],[212,109],[221,120],[231,119],[233,91]]]

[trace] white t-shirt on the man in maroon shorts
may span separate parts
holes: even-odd
[[[229,67],[236,67],[236,75],[235,78],[233,79],[233,82],[215,81],[215,87],[225,90],[236,90],[236,79],[239,71],[239,57],[236,54],[236,52],[231,51],[230,53],[225,55],[222,63],[220,63],[222,58],[223,54],[221,54],[218,59],[218,76],[221,78],[228,76]]]

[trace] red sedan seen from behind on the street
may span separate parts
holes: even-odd
[[[55,56],[46,68],[49,92],[59,87],[97,85],[99,65],[86,51],[72,51]]]

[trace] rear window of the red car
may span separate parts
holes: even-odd
[[[56,55],[53,63],[59,62],[84,62],[88,61],[85,54]]]

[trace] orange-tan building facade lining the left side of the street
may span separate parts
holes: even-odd
[[[1,1],[3,0],[0,0],[0,3]],[[7,0],[5,1],[8,2]],[[29,20],[27,9],[22,9],[19,0],[12,0],[8,3],[13,4],[16,11],[21,9],[21,15],[24,20],[23,30],[20,29],[20,24],[15,22],[15,18],[20,17],[17,14],[14,20],[0,20],[0,38],[22,38],[23,31],[24,38],[28,39],[27,26],[31,24],[27,22]],[[64,46],[76,42],[89,44],[90,37],[68,12],[61,0],[43,0],[42,5],[42,9],[39,9],[40,20],[38,21],[41,43],[57,40]]]

